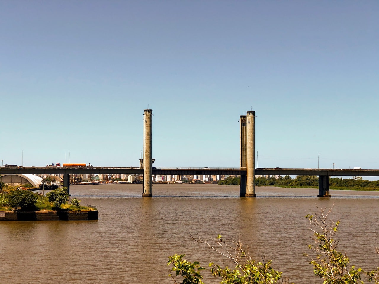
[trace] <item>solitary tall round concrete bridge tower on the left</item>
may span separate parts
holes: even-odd
[[[143,192],[142,197],[152,197],[151,194],[151,136],[152,136],[152,109],[144,110],[143,119]]]

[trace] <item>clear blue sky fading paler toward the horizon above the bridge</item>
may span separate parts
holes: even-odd
[[[1,1],[3,164],[379,169],[379,2]]]

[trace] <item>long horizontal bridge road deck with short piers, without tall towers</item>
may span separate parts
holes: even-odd
[[[72,174],[125,174],[141,175],[144,169],[140,167],[2,167],[0,174],[59,174],[64,177],[64,186],[69,188],[69,175]],[[246,175],[246,168],[194,168],[194,167],[152,167],[152,175]],[[375,169],[279,169],[257,168],[255,175],[309,175],[319,176],[319,197],[326,195],[324,187],[329,191],[329,176],[379,176]],[[327,177],[327,178],[325,178]],[[327,179],[327,180],[325,180]]]

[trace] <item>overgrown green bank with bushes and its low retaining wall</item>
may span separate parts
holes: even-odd
[[[69,201],[67,188],[46,195],[16,189],[0,194],[0,220],[97,220],[96,206],[81,206],[76,197]]]

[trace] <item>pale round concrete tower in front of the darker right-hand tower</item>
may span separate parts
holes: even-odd
[[[255,111],[246,112],[246,194],[255,194]]]

